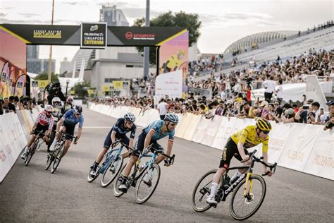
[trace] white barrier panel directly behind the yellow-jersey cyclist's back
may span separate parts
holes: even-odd
[[[221,125],[218,128],[218,132],[214,139],[214,143],[212,143],[212,147],[223,150],[223,147],[225,146],[228,138],[230,138],[230,135],[237,131],[237,128],[235,128],[236,120],[237,119],[228,119],[224,116],[222,117]]]

